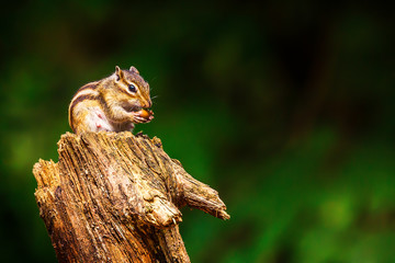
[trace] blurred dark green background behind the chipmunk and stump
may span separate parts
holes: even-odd
[[[316,1],[18,1],[0,16],[0,261],[55,262],[32,167],[115,65],[138,125],[232,219],[184,208],[192,262],[395,262],[394,12]]]

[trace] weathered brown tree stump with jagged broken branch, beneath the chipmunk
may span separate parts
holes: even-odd
[[[33,168],[59,262],[190,262],[182,206],[228,219],[218,193],[171,159],[160,139],[132,133],[65,134],[59,161]]]

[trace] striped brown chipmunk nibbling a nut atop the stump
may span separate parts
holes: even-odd
[[[149,123],[154,113],[149,84],[135,67],[115,67],[110,77],[81,87],[69,105],[69,125],[76,134],[84,132],[133,130],[134,124]]]

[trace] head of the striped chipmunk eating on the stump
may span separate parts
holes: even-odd
[[[142,108],[151,107],[149,84],[142,78],[135,67],[132,66],[129,70],[122,70],[116,66],[114,77],[117,90],[116,100],[125,110],[137,112]]]

